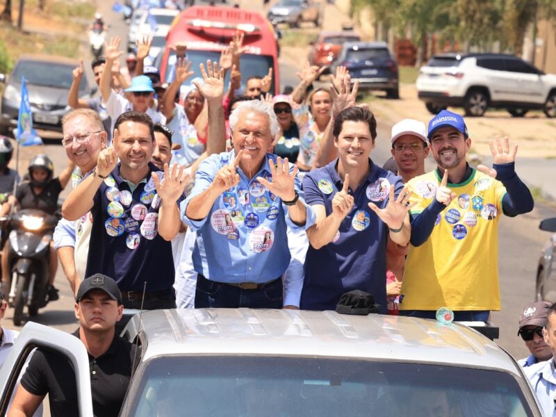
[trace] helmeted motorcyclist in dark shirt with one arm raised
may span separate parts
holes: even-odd
[[[52,178],[54,163],[44,154],[34,156],[29,162],[28,181],[22,182],[15,190],[15,195],[10,195],[8,201],[0,209],[0,217],[10,213],[10,210],[19,205],[19,208],[35,208],[48,214],[54,214],[58,208],[58,195],[65,188],[72,177],[75,164],[68,162],[65,170],[58,178]],[[10,243],[9,240],[2,250],[2,289],[5,294],[10,292]],[[58,290],[54,288],[54,277],[58,268],[58,256],[51,242],[49,260],[49,301],[58,300]]]

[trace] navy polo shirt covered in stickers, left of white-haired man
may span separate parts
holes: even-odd
[[[122,291],[173,294],[172,244],[158,235],[158,198],[151,173],[161,172],[149,163],[149,174],[132,191],[120,177],[120,163],[95,194],[87,270],[112,277]]]

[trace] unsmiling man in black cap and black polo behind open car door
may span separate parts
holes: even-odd
[[[81,327],[74,335],[89,354],[92,411],[99,417],[120,413],[133,364],[140,358],[136,345],[115,334],[122,311],[122,294],[112,278],[95,274],[83,280],[75,304]],[[70,362],[60,354],[38,349],[29,361],[8,417],[30,416],[47,394],[51,416],[79,416],[77,384]]]

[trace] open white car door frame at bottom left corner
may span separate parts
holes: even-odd
[[[85,345],[72,334],[35,322],[28,322],[23,327],[0,369],[0,416],[4,416],[8,411],[19,374],[35,347],[54,350],[72,363],[76,373],[79,416],[93,417],[89,359]]]

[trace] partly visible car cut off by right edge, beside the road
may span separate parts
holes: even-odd
[[[537,266],[537,301],[556,302],[556,218],[544,219],[539,229],[553,234],[543,246]]]

